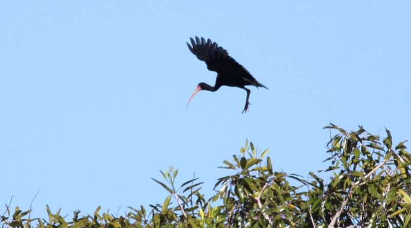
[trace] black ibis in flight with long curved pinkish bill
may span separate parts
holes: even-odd
[[[242,111],[242,113],[244,113],[247,112],[248,106],[250,105],[248,102],[250,90],[245,86],[264,87],[268,89],[258,82],[246,68],[237,63],[237,61],[228,54],[227,50],[219,47],[215,42],[212,42],[211,39],[207,39],[206,42],[206,39],[201,37],[200,40],[196,36],[196,40],[191,37],[190,40],[191,45],[187,43],[190,51],[197,56],[198,59],[206,62],[207,69],[217,72],[217,78],[214,86],[210,86],[204,82],[198,84],[196,90],[187,102],[187,107],[189,106],[191,98],[200,90],[214,92],[221,86],[230,86],[246,90],[246,105]]]

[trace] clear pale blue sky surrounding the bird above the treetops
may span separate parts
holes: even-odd
[[[150,179],[196,173],[206,198],[248,138],[274,169],[327,164],[330,121],[411,139],[407,1],[5,1],[0,203],[45,215],[162,202]],[[186,47],[211,38],[270,90],[214,85]],[[0,207],[0,214],[5,208]]]

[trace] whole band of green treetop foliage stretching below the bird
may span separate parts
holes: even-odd
[[[223,161],[233,175],[221,177],[210,199],[200,193],[202,182],[193,178],[176,187],[178,170],[161,172],[159,183],[169,196],[162,204],[129,208],[124,216],[102,213],[66,221],[60,210],[47,206],[46,219],[31,219],[30,210],[9,206],[1,217],[2,227],[409,227],[411,155],[404,142],[393,149],[391,133],[380,138],[361,126],[348,132],[330,124],[338,133],[328,142],[330,178],[324,181],[309,173],[309,179],[273,171],[269,150],[259,153],[246,142],[239,155]],[[291,181],[293,179],[293,181]],[[297,183],[296,186],[290,181]],[[7,214],[7,216],[6,216]]]

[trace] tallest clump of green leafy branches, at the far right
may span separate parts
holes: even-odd
[[[409,165],[411,155],[404,142],[393,149],[387,137],[371,135],[362,126],[347,132],[335,125],[340,134],[328,142],[326,161],[331,165],[330,182],[310,173],[316,181],[307,182],[310,219],[315,225],[344,227],[409,227],[411,192]],[[307,218],[308,219],[308,218]]]

